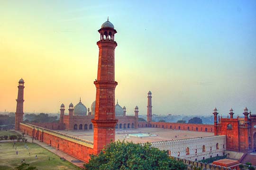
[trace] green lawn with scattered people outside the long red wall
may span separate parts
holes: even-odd
[[[27,143],[28,149],[26,149],[25,142],[16,142],[18,155],[13,144],[13,142],[0,143],[0,170],[14,170],[21,164],[22,159],[31,166],[36,166],[38,170],[80,170],[79,167],[60,160],[59,156],[38,144]]]

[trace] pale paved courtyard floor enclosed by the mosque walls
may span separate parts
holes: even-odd
[[[93,142],[93,130],[58,130],[64,134],[71,136],[79,137],[87,141]],[[137,136],[129,136],[129,134],[138,134]],[[141,134],[147,135],[156,135],[148,137],[139,137]],[[214,133],[209,132],[197,132],[197,131],[187,131],[187,130],[173,130],[166,128],[153,128],[145,127],[138,129],[116,129],[116,141],[117,140],[126,140],[132,141],[134,143],[146,143],[146,142],[159,142],[159,141],[168,141],[168,140],[177,140],[177,139],[188,139],[194,137],[204,137],[204,136],[214,136]]]

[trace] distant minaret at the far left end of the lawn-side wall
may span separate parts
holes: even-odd
[[[18,81],[18,99],[15,112],[15,130],[19,130],[19,123],[23,121],[23,102],[24,102],[24,80],[21,78]]]

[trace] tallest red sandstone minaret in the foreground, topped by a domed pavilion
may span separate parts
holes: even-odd
[[[109,19],[101,25],[99,46],[98,76],[96,86],[93,152],[98,154],[104,145],[115,141],[115,48],[114,36],[117,31]]]

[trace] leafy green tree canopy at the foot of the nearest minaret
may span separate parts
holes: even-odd
[[[186,165],[150,143],[114,142],[92,155],[84,170],[186,170]]]

